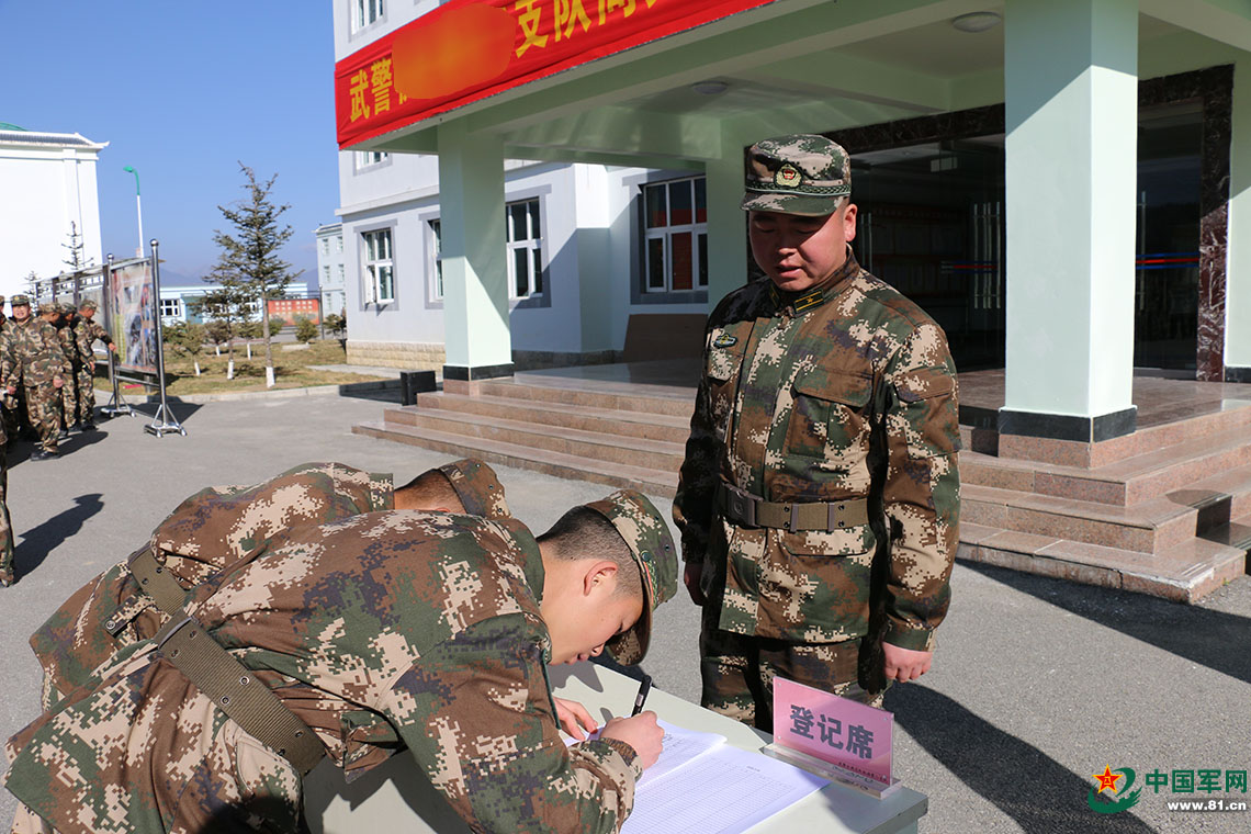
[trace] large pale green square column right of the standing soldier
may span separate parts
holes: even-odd
[[[1006,436],[1136,426],[1137,0],[1005,10]]]

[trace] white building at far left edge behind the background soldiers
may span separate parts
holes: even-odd
[[[71,224],[84,260],[101,263],[95,163],[106,146],[0,123],[0,295],[28,291],[30,273],[65,271]]]

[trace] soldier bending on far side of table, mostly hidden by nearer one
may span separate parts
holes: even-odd
[[[186,590],[280,546],[301,528],[392,509],[509,518],[494,470],[474,459],[444,464],[399,489],[387,474],[314,463],[255,486],[200,490],[161,521],[148,544],[75,591],[31,635],[44,669],[43,708],[51,709],[119,651],[156,634]]]

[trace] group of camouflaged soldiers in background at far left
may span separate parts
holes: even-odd
[[[60,455],[60,439],[73,429],[95,430],[95,343],[114,350],[113,339],[95,320],[98,305],[84,300],[78,310],[44,301],[31,313],[30,296],[15,295],[11,316],[0,295],[0,588],[18,576],[13,565],[13,525],[5,503],[9,488],[6,448],[23,421],[38,435],[30,460]]]

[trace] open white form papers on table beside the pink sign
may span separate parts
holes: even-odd
[[[664,751],[639,779],[622,834],[737,834],[829,784],[719,735],[661,724]]]

